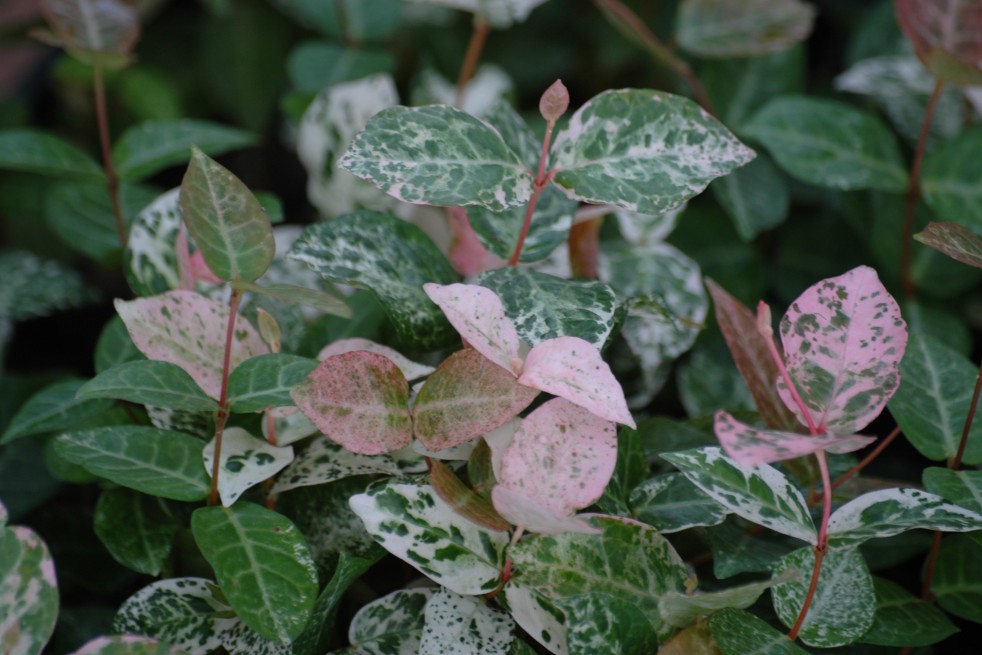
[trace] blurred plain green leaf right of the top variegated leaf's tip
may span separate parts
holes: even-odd
[[[844,103],[779,96],[754,114],[743,133],[802,182],[844,191],[907,188],[893,134],[876,116]]]

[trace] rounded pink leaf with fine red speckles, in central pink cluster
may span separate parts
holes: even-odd
[[[614,424],[554,398],[522,421],[498,481],[563,516],[596,502],[616,463]]]

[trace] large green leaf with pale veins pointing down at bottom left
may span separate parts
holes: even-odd
[[[317,600],[317,569],[289,519],[250,503],[203,507],[191,531],[243,623],[280,643],[300,635]]]

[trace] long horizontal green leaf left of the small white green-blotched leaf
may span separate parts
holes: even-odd
[[[55,452],[93,475],[151,496],[186,501],[208,493],[204,446],[183,432],[136,425],[79,430],[55,439]]]

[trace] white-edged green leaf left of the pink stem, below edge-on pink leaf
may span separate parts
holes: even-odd
[[[816,542],[815,524],[804,497],[777,469],[762,464],[748,471],[712,446],[661,456],[737,516],[810,544]]]

